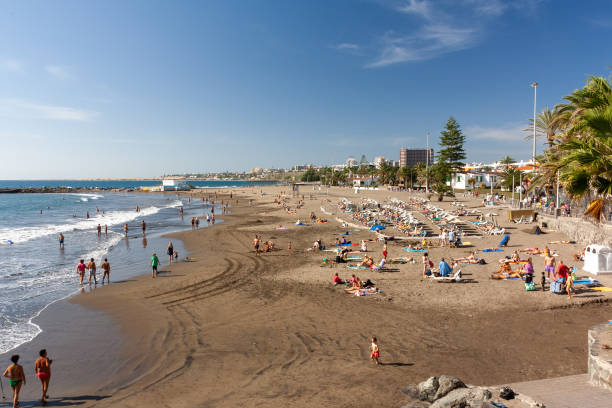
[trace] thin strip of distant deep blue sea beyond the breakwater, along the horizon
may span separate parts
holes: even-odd
[[[67,186],[72,188],[136,189],[138,187],[159,186],[160,184],[160,180],[0,180],[0,188],[40,188]],[[271,185],[276,184],[276,182],[252,182],[246,180],[190,180],[189,184],[198,188],[238,188]]]

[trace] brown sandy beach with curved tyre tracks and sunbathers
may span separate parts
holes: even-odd
[[[231,214],[218,215],[223,223],[173,235],[189,250],[189,262],[167,267],[161,257],[158,279],[143,275],[72,298],[85,309],[103,312],[119,333],[105,336],[108,323],[88,329],[99,333],[92,347],[106,342],[114,350],[88,364],[112,374],[81,377],[79,389],[71,388],[84,362],[72,359],[65,352],[68,346],[57,345],[62,359],[70,361],[61,366],[58,361],[51,395],[86,395],[90,399],[79,400],[80,406],[96,407],[401,406],[409,400],[401,389],[431,375],[494,385],[586,371],[586,331],[609,320],[609,292],[585,291],[570,300],[548,291],[526,292],[521,281],[489,279],[499,258],[567,239],[562,234],[531,235],[522,231],[529,225],[510,225],[500,216],[500,224],[512,228],[509,248],[483,254],[486,265],[462,266],[460,283],[424,280],[420,254],[416,263],[392,265],[384,273],[342,264],[330,268],[321,261],[331,253],[305,248],[317,239],[333,246],[346,230],[336,220],[349,220],[338,211],[342,197],[359,203],[364,197],[382,202],[414,194],[303,188],[304,206],[288,214],[273,202],[287,190],[233,190]],[[221,199],[228,197],[219,193]],[[479,200],[457,200],[466,208],[481,206]],[[295,209],[297,201],[294,197],[287,204]],[[433,204],[451,208],[448,201]],[[328,222],[306,221],[311,211]],[[296,226],[297,219],[308,225]],[[256,256],[255,234],[273,240],[278,250]],[[353,241],[376,237],[365,228],[352,234]],[[438,263],[442,256],[465,256],[499,239],[470,238],[473,248],[434,248],[430,257]],[[403,246],[389,242],[389,258],[409,256]],[[579,266],[571,255],[580,245],[549,247]],[[368,250],[379,261],[382,243],[370,242]],[[539,277],[543,258],[533,258]],[[369,278],[382,293],[347,295],[330,284],[335,272],[342,278],[351,273]],[[381,366],[369,360],[372,335],[380,342]],[[28,388],[38,392],[37,383]],[[24,394],[25,401],[29,395]],[[96,396],[104,398],[91,399]]]

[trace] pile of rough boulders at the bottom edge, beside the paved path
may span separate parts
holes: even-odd
[[[402,408],[518,408],[544,407],[510,388],[466,385],[457,377],[441,375],[402,390],[412,401]],[[515,398],[516,397],[516,398]]]

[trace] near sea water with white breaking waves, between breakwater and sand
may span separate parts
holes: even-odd
[[[162,235],[189,229],[192,216],[209,212],[208,203],[189,203],[176,195],[0,194],[0,354],[40,333],[32,319],[49,304],[100,287],[93,283],[79,286],[76,265],[80,259],[86,263],[95,259],[99,280],[104,257],[111,264],[111,282],[149,273],[153,252],[162,266],[168,264],[169,240]],[[216,214],[220,212],[215,209]],[[141,228],[143,220],[146,234]],[[122,230],[126,223],[127,237]],[[200,227],[206,227],[206,221]],[[65,236],[63,250],[59,248],[60,232]],[[182,244],[173,244],[179,258],[184,257]]]

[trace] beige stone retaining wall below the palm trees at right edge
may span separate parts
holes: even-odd
[[[569,239],[584,246],[590,244],[605,245],[612,248],[612,225],[594,224],[574,217],[552,217],[538,214],[540,226],[545,223],[548,228],[563,232]]]

